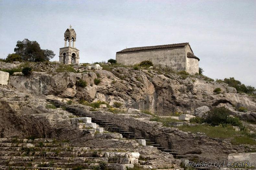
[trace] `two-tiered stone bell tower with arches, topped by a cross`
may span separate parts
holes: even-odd
[[[76,32],[70,25],[70,28],[64,33],[65,45],[60,48],[60,63],[64,64],[79,64],[79,50],[76,49]],[[68,46],[67,46],[68,41]],[[73,41],[71,45],[71,41]]]

